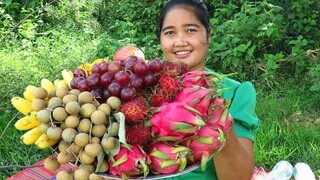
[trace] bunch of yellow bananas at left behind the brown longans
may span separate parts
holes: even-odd
[[[23,92],[23,97],[11,98],[12,105],[24,116],[15,123],[15,128],[25,132],[20,141],[23,144],[35,144],[39,149],[51,147],[57,140],[50,139],[41,129],[43,122],[37,119],[37,113],[47,107],[48,100],[57,88],[70,88],[70,81],[73,79],[72,71],[64,69],[61,72],[63,79],[56,79],[54,82],[42,78],[40,86],[28,85]]]

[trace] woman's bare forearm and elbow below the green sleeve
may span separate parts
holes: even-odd
[[[237,138],[232,127],[226,144],[214,157],[214,164],[219,180],[250,180],[255,166],[253,142]]]

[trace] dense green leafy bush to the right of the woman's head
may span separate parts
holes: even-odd
[[[306,56],[308,51],[319,47],[317,37],[320,28],[315,24],[320,19],[319,11],[315,11],[319,3],[308,1],[299,5],[301,3],[281,2],[210,3],[214,11],[207,64],[222,72],[236,71],[239,79],[259,80],[271,88],[282,78],[305,79],[309,69],[319,62],[319,59],[311,60]],[[306,7],[311,11],[306,12]],[[297,13],[304,17],[298,19],[300,23],[293,18]],[[308,28],[298,26],[302,22]]]

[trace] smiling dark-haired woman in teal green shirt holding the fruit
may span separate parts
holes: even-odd
[[[164,57],[184,62],[192,71],[211,71],[205,67],[210,44],[209,12],[199,0],[170,0],[158,22],[158,37]],[[255,114],[256,92],[250,82],[226,78],[223,97],[231,100],[234,126],[226,144],[207,165],[173,179],[250,179],[254,170],[253,133],[259,119]],[[241,171],[239,171],[241,169]]]

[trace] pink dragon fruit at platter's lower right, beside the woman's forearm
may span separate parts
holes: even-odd
[[[201,127],[194,138],[181,142],[181,145],[190,148],[192,154],[188,156],[189,161],[194,163],[201,160],[201,168],[205,170],[208,160],[219,151],[224,141],[221,130],[206,125]]]

